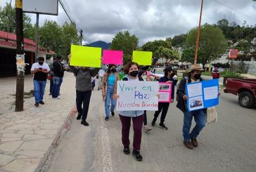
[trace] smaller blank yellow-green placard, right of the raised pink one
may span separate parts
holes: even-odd
[[[132,61],[137,62],[139,65],[151,65],[152,52],[151,51],[133,51]]]

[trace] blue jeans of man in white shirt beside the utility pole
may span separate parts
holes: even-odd
[[[36,102],[41,102],[44,99],[44,89],[46,81],[34,80],[34,99]]]

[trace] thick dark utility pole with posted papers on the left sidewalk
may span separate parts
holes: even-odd
[[[16,15],[16,97],[15,112],[23,111],[23,94],[24,94],[24,73],[25,73],[25,54],[23,43],[23,0],[15,0]]]

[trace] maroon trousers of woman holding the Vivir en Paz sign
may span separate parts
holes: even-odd
[[[132,123],[134,124],[133,150],[141,150],[141,128],[143,124],[143,116],[144,115],[142,114],[139,117],[124,117],[119,114],[122,123],[122,144],[124,145],[124,147],[129,147],[130,145],[129,131],[132,118]]]

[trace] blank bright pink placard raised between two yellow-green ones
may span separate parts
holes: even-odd
[[[103,50],[103,64],[122,64],[122,51]]]

